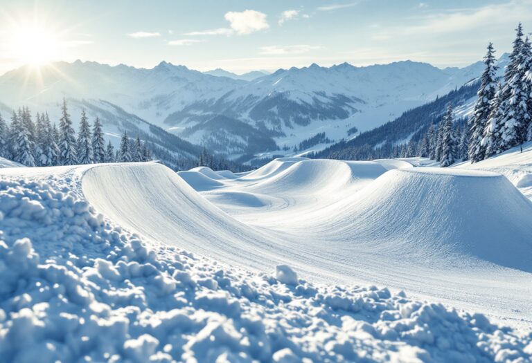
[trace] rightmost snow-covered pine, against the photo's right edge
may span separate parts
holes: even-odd
[[[526,85],[526,64],[531,57],[531,44],[528,37],[515,57],[515,73],[506,84],[509,97],[504,102],[504,114],[501,138],[504,149],[521,145],[526,140],[526,131],[531,115],[527,109],[531,98]]]

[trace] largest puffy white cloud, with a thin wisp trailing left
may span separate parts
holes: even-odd
[[[197,35],[247,35],[269,28],[266,14],[256,10],[230,11],[224,15],[224,18],[229,21],[230,28],[199,30],[186,32],[184,35],[189,37]]]

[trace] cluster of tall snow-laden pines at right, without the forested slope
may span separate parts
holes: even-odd
[[[529,37],[523,39],[517,26],[513,50],[504,77],[497,81],[493,44],[488,44],[484,72],[468,127],[457,136],[448,107],[440,127],[429,127],[418,145],[418,156],[440,162],[478,162],[532,139],[532,51]],[[411,156],[411,155],[408,155]]]

